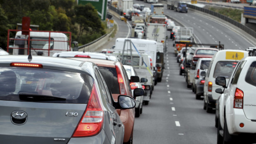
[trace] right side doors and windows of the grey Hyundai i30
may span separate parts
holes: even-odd
[[[108,109],[108,114],[109,114],[109,125],[110,125],[111,132],[113,132],[113,135],[109,136],[109,140],[111,141],[111,144],[114,144],[114,143],[121,144],[123,142],[123,135],[124,135],[123,123],[121,122],[121,119],[115,107],[113,106],[114,99],[107,86],[106,81],[104,80],[104,76],[102,75],[101,71],[98,68],[95,68],[95,73],[96,75],[98,75],[100,87],[102,89],[104,99],[106,100],[106,103],[107,103],[106,108]]]

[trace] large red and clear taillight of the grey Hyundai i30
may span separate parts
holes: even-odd
[[[87,108],[72,137],[91,137],[97,135],[102,130],[103,118],[99,92],[95,84],[93,84]]]

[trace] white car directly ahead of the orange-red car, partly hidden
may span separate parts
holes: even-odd
[[[126,70],[127,76],[130,80],[131,76],[138,76],[135,69],[133,68],[133,66],[130,65],[123,65],[124,69]],[[133,94],[133,90],[135,88],[142,88],[142,85],[140,82],[137,83],[130,83],[130,88],[132,90],[132,94]],[[140,117],[140,114],[142,113],[142,105],[143,105],[143,95],[139,96],[139,97],[135,97],[135,117]]]

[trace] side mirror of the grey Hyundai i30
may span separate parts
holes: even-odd
[[[116,109],[133,109],[136,105],[135,100],[127,95],[119,95],[117,103]]]

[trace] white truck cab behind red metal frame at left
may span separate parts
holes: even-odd
[[[69,33],[69,32],[67,32]],[[69,33],[71,36],[71,33]],[[50,39],[49,39],[50,37]],[[17,40],[21,39],[21,40]],[[15,35],[14,46],[12,54],[28,54],[28,43],[24,40],[25,35],[18,31]],[[68,38],[64,33],[57,32],[43,32],[43,31],[31,31],[30,32],[30,47],[32,55],[52,56],[55,52],[60,51],[72,51],[70,48],[71,38]],[[19,49],[17,49],[19,48]]]

